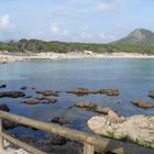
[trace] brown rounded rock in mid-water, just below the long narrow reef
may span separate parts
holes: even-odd
[[[95,109],[97,107],[97,105],[95,105],[90,101],[79,101],[79,102],[75,103],[75,107]]]

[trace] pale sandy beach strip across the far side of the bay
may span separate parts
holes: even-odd
[[[139,54],[139,53],[92,53],[91,51],[84,51],[80,53],[9,53],[0,52],[0,63],[9,63],[26,59],[75,59],[75,58],[154,58],[154,55]]]

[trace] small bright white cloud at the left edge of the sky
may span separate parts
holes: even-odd
[[[8,29],[10,26],[10,15],[0,15],[0,29]]]

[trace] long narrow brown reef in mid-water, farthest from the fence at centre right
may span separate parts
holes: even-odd
[[[89,90],[87,88],[76,88],[73,91],[67,91],[67,94],[74,94],[74,95],[77,95],[77,96],[85,96],[85,95],[119,96],[119,90],[116,89],[116,88],[100,89],[100,90]]]

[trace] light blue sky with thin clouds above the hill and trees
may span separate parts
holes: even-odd
[[[0,0],[0,41],[109,43],[154,31],[154,0]]]

